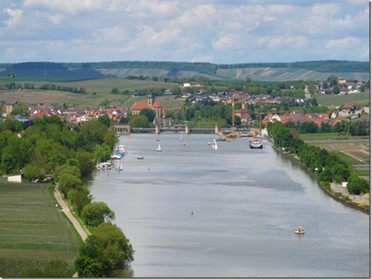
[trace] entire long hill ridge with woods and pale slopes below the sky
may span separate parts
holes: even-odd
[[[369,62],[324,60],[291,63],[212,64],[204,62],[111,61],[86,63],[23,62],[0,64],[0,76],[92,79],[150,76],[257,81],[325,80],[330,75],[367,81]]]

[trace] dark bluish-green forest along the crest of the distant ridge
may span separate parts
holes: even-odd
[[[166,62],[166,61],[117,61],[91,63],[54,63],[54,62],[24,62],[15,64],[0,64],[0,76],[36,77],[36,78],[70,78],[87,79],[116,77],[115,73],[122,71],[122,75],[133,73],[148,75],[146,70],[157,69],[163,76],[183,76],[186,72],[192,76],[207,76],[222,78],[219,71],[237,69],[272,68],[284,69],[288,72],[307,70],[318,73],[369,73],[369,62],[359,61],[305,61],[292,63],[244,63],[244,64],[212,64],[202,62]],[[124,71],[124,74],[123,74]],[[165,73],[164,73],[165,72]],[[190,74],[191,73],[191,74]],[[235,77],[232,76],[231,79]]]

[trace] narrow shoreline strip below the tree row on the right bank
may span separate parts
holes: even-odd
[[[271,140],[270,140],[271,141]],[[271,141],[272,142],[272,141]],[[287,153],[287,152],[283,152],[282,150],[280,150],[279,148],[277,148],[276,146],[274,146],[274,144],[272,144],[272,148],[278,152],[279,154],[281,154],[282,156],[288,158],[289,160],[291,160],[292,162],[295,162],[297,163],[307,174],[309,174],[312,178],[314,178],[316,181],[317,181],[317,184],[318,184],[318,187],[320,189],[323,190],[323,192],[325,194],[327,194],[329,197],[333,198],[334,200],[338,201],[338,202],[341,202],[342,204],[344,204],[345,206],[349,206],[351,208],[354,208],[354,209],[357,209],[359,211],[362,211],[368,215],[370,215],[370,203],[368,205],[364,205],[364,204],[361,204],[361,203],[358,203],[358,201],[363,201],[365,200],[363,198],[363,195],[359,195],[358,198],[355,198],[355,195],[345,195],[345,192],[343,191],[335,191],[334,189],[336,189],[337,185],[334,184],[333,187],[332,187],[332,183],[328,188],[324,187],[321,185],[321,182],[319,181],[319,179],[311,172],[309,171],[309,169],[304,166],[297,158],[295,158],[293,155]],[[369,199],[370,201],[370,199]],[[367,208],[368,206],[368,208]]]

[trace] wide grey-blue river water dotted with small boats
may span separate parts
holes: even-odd
[[[135,277],[369,277],[369,215],[325,195],[270,142],[213,150],[213,137],[122,136],[123,171],[94,176],[94,200],[135,249]]]

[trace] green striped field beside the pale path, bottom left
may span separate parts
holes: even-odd
[[[78,243],[46,184],[0,181],[0,276],[22,277],[51,260],[71,267]]]

